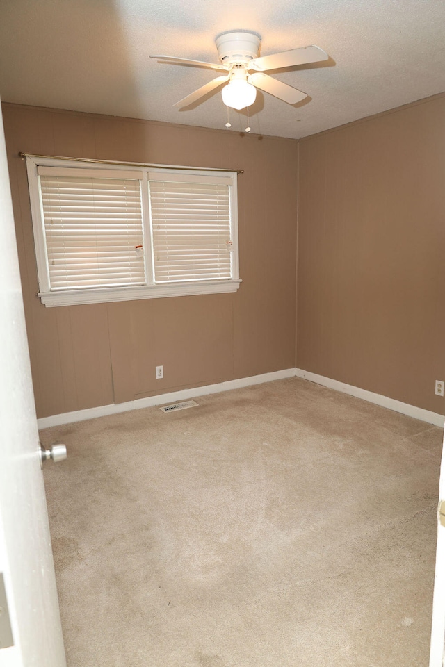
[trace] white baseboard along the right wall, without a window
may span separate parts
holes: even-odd
[[[415,405],[396,401],[394,398],[388,398],[387,396],[375,394],[372,391],[366,391],[366,389],[360,389],[359,387],[355,387],[351,384],[344,384],[344,382],[332,380],[330,377],[324,377],[323,375],[310,373],[309,371],[302,370],[301,368],[296,368],[296,376],[302,377],[303,379],[309,380],[311,382],[316,382],[316,384],[322,384],[323,386],[330,389],[342,391],[343,393],[349,394],[350,396],[361,398],[364,401],[369,401],[369,403],[381,405],[384,408],[394,410],[395,412],[400,412],[403,415],[407,415],[408,417],[414,417],[414,419],[428,422],[428,424],[434,424],[435,426],[439,426],[442,429],[444,428],[445,417],[444,415],[439,415],[436,412],[423,410],[423,408],[418,408]]]

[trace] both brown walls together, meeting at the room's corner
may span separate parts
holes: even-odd
[[[10,104],[3,115],[38,416],[294,365],[445,413],[434,395],[445,379],[445,96],[299,144]],[[45,308],[19,151],[244,169],[240,290]]]

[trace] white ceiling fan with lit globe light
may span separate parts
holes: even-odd
[[[323,49],[316,46],[291,49],[291,51],[274,53],[272,56],[260,58],[261,36],[250,30],[220,33],[216,37],[215,43],[218,49],[219,63],[204,63],[202,60],[175,58],[175,56],[150,56],[150,58],[157,58],[164,63],[209,67],[210,69],[227,72],[224,76],[217,76],[216,79],[212,79],[195,92],[180,99],[173,106],[179,109],[189,106],[222,85],[224,85],[223,101],[227,106],[234,109],[243,109],[253,104],[257,95],[257,88],[282,99],[284,102],[288,102],[288,104],[296,104],[296,102],[305,99],[307,94],[287,83],[273,79],[264,72],[269,69],[318,63],[329,58]]]

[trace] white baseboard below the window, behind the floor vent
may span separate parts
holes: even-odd
[[[208,384],[204,387],[181,389],[179,391],[172,391],[168,394],[158,394],[156,396],[149,396],[147,398],[138,398],[135,401],[129,401],[127,403],[112,403],[110,405],[100,405],[96,408],[87,408],[85,410],[77,410],[75,412],[65,412],[60,415],[51,415],[50,417],[41,417],[37,420],[37,423],[39,429],[47,429],[51,426],[71,424],[72,422],[82,422],[86,419],[95,419],[96,417],[115,415],[117,413],[127,412],[129,410],[139,410],[140,408],[150,408],[154,405],[163,405],[165,403],[185,401],[197,396],[217,394],[221,391],[239,389],[241,387],[251,386],[252,384],[262,384],[263,382],[271,382],[273,380],[282,380],[286,377],[295,377],[295,368],[286,368],[285,370],[277,370],[273,373],[253,375],[252,377],[241,377],[240,379],[227,380],[226,382],[219,382],[218,384]]]

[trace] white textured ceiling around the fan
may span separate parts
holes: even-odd
[[[162,64],[217,62],[220,32],[262,37],[261,55],[316,44],[330,56],[270,72],[309,97],[259,92],[252,132],[300,138],[445,91],[445,0],[1,0],[3,101],[224,129],[220,91],[176,101],[218,73]],[[246,126],[231,110],[232,130]]]

